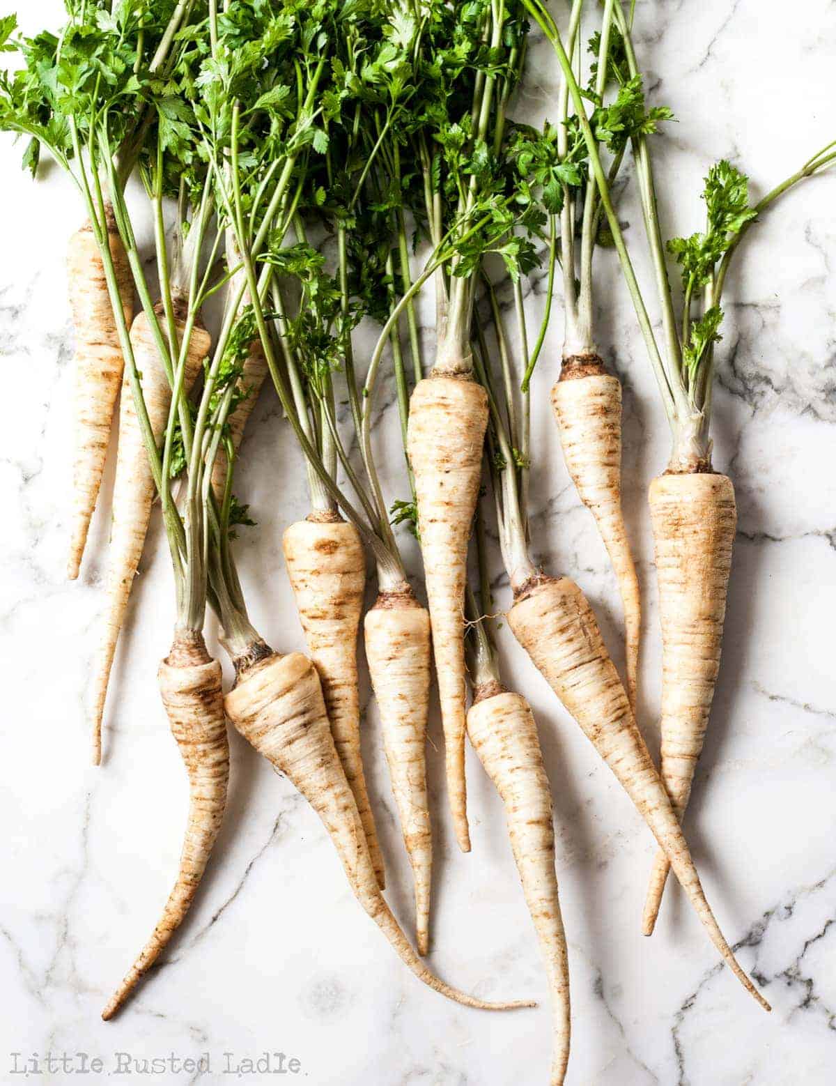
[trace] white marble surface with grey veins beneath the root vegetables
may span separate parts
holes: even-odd
[[[33,0],[27,27],[58,22],[61,7]],[[831,0],[797,0],[791,11],[758,0],[639,0],[636,17],[650,85],[680,117],[657,142],[671,232],[698,228],[710,161],[733,157],[760,193],[836,135]],[[555,83],[541,45],[517,113],[553,113]],[[179,1084],[237,1081],[229,1066],[283,1050],[301,1061],[297,1077],[316,1086],[545,1083],[543,970],[501,805],[472,752],[473,851],[463,856],[441,758],[430,750],[431,961],[467,988],[535,996],[541,1009],[467,1011],[415,982],[354,902],[315,816],[233,735],[229,813],[191,915],[129,1009],[111,1024],[99,1020],[157,915],[180,846],[185,779],[154,680],[172,628],[170,576],[155,516],[113,677],[107,759],[93,770],[85,697],[103,606],[112,469],[83,578],[69,584],[63,253],[80,210],[58,169],[36,189],[17,154],[3,139],[0,1079],[22,1077],[11,1073],[14,1051],[99,1056],[104,1071],[88,1082],[116,1070],[118,1051],[208,1053],[208,1073],[169,1066],[135,1075]],[[679,892],[655,937],[642,937],[650,836],[502,631],[506,674],[535,709],[554,790],[574,1009],[569,1082],[578,1086],[825,1086],[836,1077],[834,192],[836,176],[814,180],[756,228],[730,285],[720,349],[715,462],[734,476],[739,532],[722,674],[686,829],[721,924],[774,1006],[770,1018],[718,967]],[[632,201],[622,217],[647,281]],[[659,631],[645,493],[664,467],[666,424],[615,265],[605,258],[599,268],[607,303],[599,339],[625,384],[625,495],[646,614],[641,723],[656,749]],[[543,290],[540,280],[533,315]],[[580,581],[618,657],[612,576],[548,417],[559,316],[558,306],[534,384],[535,548],[552,570]],[[240,490],[259,521],[239,546],[252,610],[275,644],[301,647],[280,534],[305,512],[303,476],[273,394],[256,408],[244,454]],[[507,605],[503,583],[498,597]],[[363,697],[368,703],[365,679]],[[436,719],[431,734],[440,749]],[[364,742],[389,898],[409,924],[410,883],[373,706]],[[233,1053],[229,1064],[225,1051]],[[241,1081],[292,1078],[262,1071]]]

